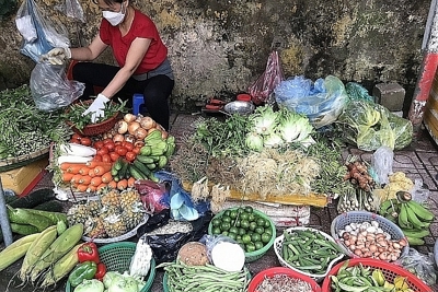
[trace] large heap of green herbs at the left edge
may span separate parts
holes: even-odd
[[[0,108],[0,160],[31,154],[69,136],[62,110],[39,110],[27,84],[1,91]]]

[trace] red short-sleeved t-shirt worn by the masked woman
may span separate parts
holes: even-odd
[[[152,39],[135,74],[146,73],[155,69],[168,56],[168,48],[161,40],[155,24],[149,16],[138,10],[135,10],[132,24],[125,36],[122,36],[118,26],[111,25],[105,19],[102,19],[101,22],[100,36],[103,43],[112,47],[114,57],[120,67],[125,66],[126,55],[134,39],[137,37]]]

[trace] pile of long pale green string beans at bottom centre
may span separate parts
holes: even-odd
[[[244,292],[247,287],[247,271],[229,272],[207,264],[188,266],[182,261],[163,262],[170,292]]]

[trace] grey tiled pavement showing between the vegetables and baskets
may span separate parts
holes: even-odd
[[[198,115],[173,115],[172,116],[172,129],[171,132],[175,137],[181,137],[193,130],[193,121],[199,118]],[[346,149],[343,155],[356,154],[360,155],[365,161],[370,161],[371,153],[365,153],[357,149]],[[430,190],[429,206],[434,212],[438,215],[438,148],[435,142],[429,138],[426,131],[422,131],[416,137],[412,145],[403,151],[396,151],[394,153],[393,171],[402,171],[407,174],[412,179],[422,178]],[[50,176],[45,176],[36,188],[50,187]],[[310,215],[310,226],[321,229],[322,231],[330,234],[330,224],[332,220],[337,215],[334,203],[328,205],[326,208],[312,208]],[[430,226],[431,236],[426,238],[426,245],[419,246],[418,250],[422,253],[431,253],[435,241],[438,237],[438,219]],[[249,269],[251,272],[256,273],[268,267],[279,266],[278,259],[275,256],[274,250],[270,248],[265,256],[257,261],[251,262]],[[8,284],[3,279],[10,279],[16,271],[19,265],[14,265],[11,269],[0,272],[0,290],[4,291],[3,288]],[[163,273],[158,271],[154,280],[152,292],[161,292],[162,289],[162,277]],[[20,288],[10,287],[10,292],[22,291]],[[64,287],[59,287],[53,291],[65,291]],[[438,291],[438,289],[436,289]]]

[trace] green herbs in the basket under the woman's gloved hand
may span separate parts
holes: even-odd
[[[118,103],[111,102],[105,104],[104,115],[102,117],[97,117],[94,122],[91,120],[92,113],[87,115],[82,115],[85,112],[90,103],[88,102],[78,102],[68,107],[65,113],[65,119],[70,121],[77,129],[82,130],[85,126],[92,124],[100,124],[102,121],[107,120],[108,118],[113,117],[115,114],[125,114],[127,113],[126,108],[127,101],[123,102],[118,100]]]

